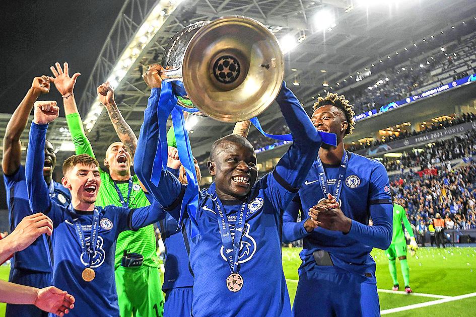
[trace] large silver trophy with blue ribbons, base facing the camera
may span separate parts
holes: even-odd
[[[165,49],[163,71],[177,104],[194,115],[224,122],[250,119],[278,95],[283,53],[275,35],[247,17],[200,21],[182,29]],[[183,87],[183,89],[181,89]]]

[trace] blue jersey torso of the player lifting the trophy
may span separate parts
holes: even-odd
[[[247,198],[248,214],[240,246],[238,273],[243,288],[233,293],[226,280],[231,274],[222,244],[219,220],[212,192],[202,190],[196,224],[199,235],[189,239],[190,266],[195,272],[193,316],[290,316],[291,304],[283,273],[281,255],[281,212],[295,195],[273,176],[261,178]],[[232,236],[240,201],[222,201]],[[180,204],[169,211],[178,217]],[[187,232],[191,220],[185,219]],[[188,234],[188,236],[190,236]]]

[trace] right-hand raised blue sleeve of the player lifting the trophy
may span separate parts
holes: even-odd
[[[272,175],[267,177],[268,197],[274,207],[281,210],[287,207],[304,182],[316,159],[322,139],[285,82],[276,101],[293,137],[288,151],[281,157]]]

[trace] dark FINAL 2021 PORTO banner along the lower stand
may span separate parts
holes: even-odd
[[[472,129],[476,129],[476,121],[465,122],[465,123],[461,123],[452,127],[447,127],[447,128],[431,131],[428,133],[411,136],[406,139],[401,139],[401,140],[396,140],[393,142],[375,145],[370,148],[357,150],[355,152],[360,155],[375,155],[377,153],[387,152],[389,150],[394,150],[403,146],[415,145],[422,142],[430,143],[430,142],[438,141],[449,136],[465,133]]]

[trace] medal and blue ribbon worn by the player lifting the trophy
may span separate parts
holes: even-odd
[[[245,227],[246,214],[248,213],[248,204],[244,202],[241,205],[240,211],[238,212],[238,217],[235,222],[235,236],[232,237],[230,225],[228,224],[228,219],[220,199],[214,195],[212,200],[215,203],[215,207],[218,211],[217,217],[223,247],[225,250],[233,250],[230,255],[226,256],[231,271],[231,274],[226,280],[226,285],[230,291],[238,292],[243,287],[243,277],[238,273],[238,258],[240,255],[240,245],[244,233],[243,231]]]

